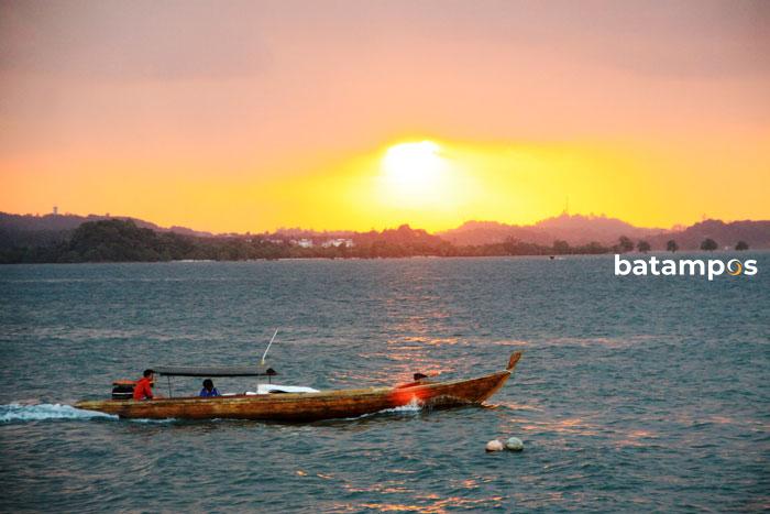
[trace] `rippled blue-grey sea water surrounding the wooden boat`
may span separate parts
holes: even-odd
[[[741,258],[757,276],[615,277],[610,256],[2,266],[0,510],[770,508],[770,254]],[[280,382],[318,389],[525,356],[485,407],[290,425],[68,406],[152,365],[256,362],[275,327]],[[524,452],[484,452],[509,436]]]

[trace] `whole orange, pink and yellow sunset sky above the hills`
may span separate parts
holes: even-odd
[[[0,3],[0,211],[770,218],[768,1]]]

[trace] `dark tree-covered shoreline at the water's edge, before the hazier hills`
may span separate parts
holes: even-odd
[[[706,239],[702,250],[716,250],[717,243]],[[244,261],[255,259],[376,259],[406,256],[504,256],[504,255],[565,255],[626,253],[634,250],[650,251],[647,241],[635,243],[626,237],[617,244],[603,245],[591,242],[570,245],[557,240],[552,245],[542,245],[508,239],[499,243],[480,245],[454,245],[424,230],[408,226],[386,230],[355,241],[353,247],[302,248],[290,241],[264,237],[196,237],[175,232],[156,232],[140,228],[131,220],[110,219],[80,225],[72,236],[47,245],[23,245],[0,249],[0,263],[75,263],[75,262],[158,262],[182,260]],[[667,249],[679,250],[674,240]],[[736,250],[747,250],[748,244],[738,242]]]

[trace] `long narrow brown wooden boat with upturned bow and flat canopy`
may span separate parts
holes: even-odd
[[[264,419],[280,422],[314,422],[349,418],[406,405],[426,408],[447,408],[480,404],[492,396],[508,380],[521,358],[515,352],[505,370],[469,380],[430,382],[419,379],[395,387],[369,387],[317,393],[283,393],[230,395],[218,397],[172,397],[157,400],[82,401],[75,406],[87,411],[118,415],[124,418],[148,419]],[[158,370],[156,370],[158,371]],[[164,373],[165,371],[165,373]],[[160,370],[161,375],[233,376],[213,370],[185,372]],[[272,370],[267,370],[272,371]],[[206,372],[209,372],[208,374]],[[264,372],[243,372],[235,376],[264,375]],[[275,372],[273,371],[274,375]]]

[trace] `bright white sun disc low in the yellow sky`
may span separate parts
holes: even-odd
[[[407,194],[424,194],[436,187],[444,164],[441,146],[432,141],[393,145],[382,160],[387,182]]]

